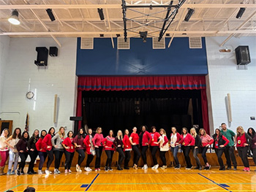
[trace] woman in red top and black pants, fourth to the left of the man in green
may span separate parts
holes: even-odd
[[[187,128],[182,128],[182,145],[181,150],[183,151],[185,161],[187,163],[186,169],[192,169],[192,164],[189,158],[189,152],[192,149],[192,146],[195,145],[195,138],[192,137],[191,134],[188,133]]]

